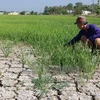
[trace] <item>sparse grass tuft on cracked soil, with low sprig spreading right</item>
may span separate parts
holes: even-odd
[[[32,81],[34,88],[40,91],[37,94],[38,98],[46,95],[50,89],[58,89],[65,86],[63,83],[55,84],[52,75],[48,72],[50,62],[47,53],[44,51],[42,52],[41,56],[37,56],[36,62],[31,59],[31,61],[28,61],[27,64],[33,70],[33,72],[38,75],[38,77]]]

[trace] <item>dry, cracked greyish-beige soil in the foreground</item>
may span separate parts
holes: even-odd
[[[16,56],[18,52],[19,48],[16,47],[12,54],[5,58],[0,50],[0,100],[38,100],[37,90],[32,83],[36,75],[28,66],[23,66]],[[66,81],[68,86],[50,90],[40,100],[100,100],[100,67],[90,80],[81,79],[72,73],[53,77],[58,82]]]

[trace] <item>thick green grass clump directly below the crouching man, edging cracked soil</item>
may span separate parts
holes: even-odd
[[[52,64],[58,65],[60,72],[83,73],[87,77],[93,74],[99,58],[99,55],[92,55],[91,49],[84,47],[81,43],[75,44],[74,47],[57,47],[51,55]]]

